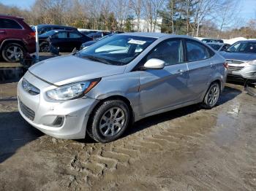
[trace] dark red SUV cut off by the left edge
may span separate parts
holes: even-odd
[[[35,33],[20,17],[0,15],[0,55],[17,62],[26,52],[36,51]]]

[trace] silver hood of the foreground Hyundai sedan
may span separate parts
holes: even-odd
[[[54,85],[66,85],[88,79],[124,73],[125,66],[89,61],[74,55],[64,55],[41,61],[29,68],[31,74]]]

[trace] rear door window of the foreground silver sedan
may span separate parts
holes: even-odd
[[[213,54],[208,47],[193,40],[186,40],[187,61],[201,61],[211,57]]]

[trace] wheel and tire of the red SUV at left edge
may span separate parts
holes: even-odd
[[[20,60],[19,57],[22,57],[25,54],[25,49],[20,44],[16,43],[6,44],[1,51],[4,60],[10,63],[18,62]]]

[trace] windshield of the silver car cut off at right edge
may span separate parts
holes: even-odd
[[[236,42],[227,52],[256,53],[256,42]]]

